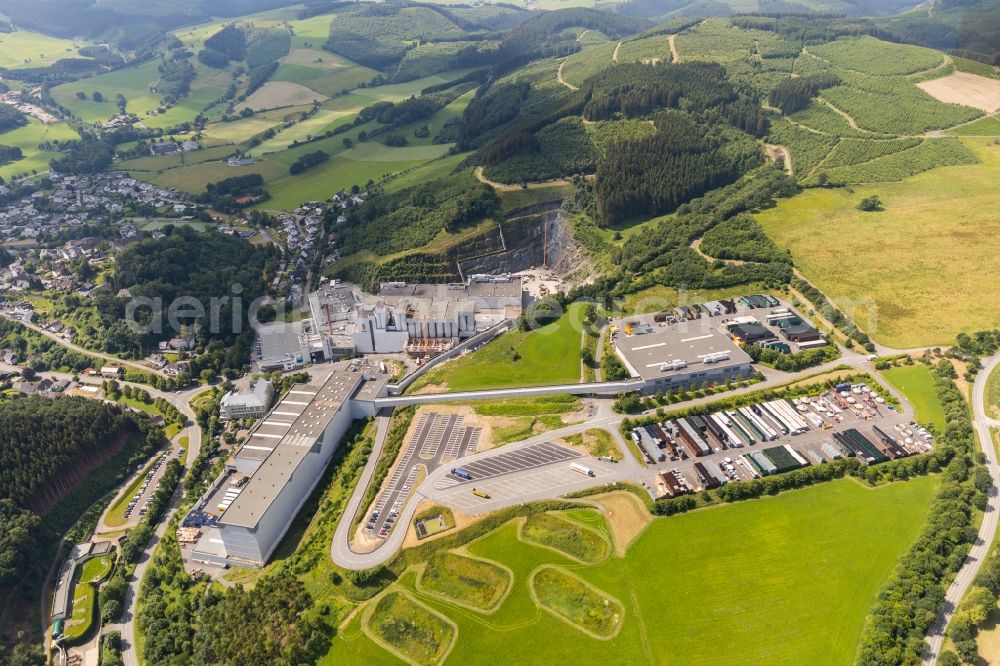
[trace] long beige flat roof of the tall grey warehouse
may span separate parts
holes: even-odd
[[[237,453],[237,457],[263,462],[219,524],[256,527],[362,381],[364,374],[360,372],[334,372],[322,386],[292,386]]]

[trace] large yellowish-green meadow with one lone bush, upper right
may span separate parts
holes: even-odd
[[[981,304],[994,298],[1000,279],[993,252],[1000,233],[993,214],[1000,206],[1000,146],[989,139],[962,142],[979,164],[853,192],[811,189],[757,219],[791,250],[806,278],[851,310],[878,342],[948,344],[960,331],[995,328],[1000,314]],[[871,194],[884,210],[858,211],[858,201]],[[945,311],[947,317],[933,316]]]

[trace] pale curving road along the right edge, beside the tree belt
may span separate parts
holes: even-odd
[[[986,466],[993,479],[993,485],[990,487],[982,525],[979,526],[979,536],[976,537],[976,542],[972,545],[962,568],[958,570],[954,582],[945,593],[944,609],[927,632],[927,645],[924,649],[923,659],[926,666],[933,666],[937,663],[941,653],[941,645],[944,643],[944,632],[948,628],[948,623],[955,614],[962,597],[972,586],[972,581],[979,573],[979,567],[986,560],[997,531],[998,520],[1000,520],[1000,496],[997,495],[997,488],[1000,488],[1000,465],[997,464],[996,448],[993,446],[993,437],[990,432],[990,427],[1000,428],[1000,421],[986,414],[986,384],[990,373],[998,365],[1000,365],[1000,354],[987,359],[983,363],[983,369],[976,375],[976,382],[972,385],[973,426],[976,428],[983,453],[986,455]]]

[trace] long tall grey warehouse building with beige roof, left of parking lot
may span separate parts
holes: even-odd
[[[323,476],[355,418],[374,415],[384,375],[334,371],[296,384],[259,421],[192,514],[207,525],[192,559],[263,566]],[[189,514],[190,515],[190,514]]]

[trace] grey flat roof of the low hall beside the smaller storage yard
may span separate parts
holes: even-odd
[[[651,317],[644,319],[651,320]],[[624,330],[626,320],[621,320],[615,322],[619,330],[615,337],[615,345],[619,357],[630,366],[629,370],[646,380],[686,375],[697,371],[698,368],[751,363],[753,359],[728,335],[719,330],[723,319],[724,316],[702,317],[679,324],[633,327],[635,330],[649,331],[637,335],[626,335]],[[630,317],[627,321],[629,323],[643,321],[643,318]],[[729,354],[729,358],[710,365],[704,364],[705,357],[722,352]],[[661,369],[664,364],[674,361],[683,361],[687,365],[677,369]]]

